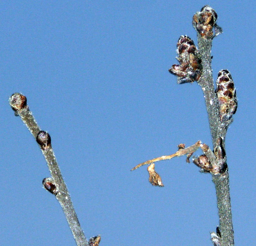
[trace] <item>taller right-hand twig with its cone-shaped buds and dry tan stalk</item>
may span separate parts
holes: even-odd
[[[229,194],[228,166],[225,154],[225,138],[228,126],[233,121],[232,116],[236,113],[237,100],[234,82],[228,70],[219,71],[216,90],[213,85],[211,67],[212,39],[222,33],[222,29],[216,24],[217,17],[214,9],[208,5],[204,6],[201,11],[196,12],[193,16],[192,24],[197,31],[198,49],[193,40],[186,35],[181,35],[177,43],[178,57],[176,57],[179,64],[174,64],[169,69],[170,73],[178,77],[178,84],[197,81],[201,86],[208,112],[213,151],[207,145],[197,142],[195,145],[190,146],[193,149],[191,153],[188,152],[190,147],[186,149],[181,148],[172,155],[161,156],[140,163],[132,168],[132,170],[146,164],[159,160],[168,160],[184,154],[187,154],[187,161],[189,162],[189,157],[200,145],[204,155],[194,159],[193,162],[202,168],[204,172],[212,174],[220,218],[218,231],[221,233],[221,237],[218,235],[215,237],[215,233],[212,233],[212,242],[218,246],[233,246],[234,231]],[[149,181],[151,180],[153,185],[159,185],[161,178],[155,173],[155,166],[151,165],[149,169],[153,176],[149,177]],[[150,172],[149,175],[151,175]]]

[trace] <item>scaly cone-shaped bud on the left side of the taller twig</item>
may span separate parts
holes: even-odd
[[[201,59],[194,41],[186,35],[181,35],[177,43],[177,60],[180,64],[174,64],[169,72],[178,77],[178,83],[191,83],[201,76]]]

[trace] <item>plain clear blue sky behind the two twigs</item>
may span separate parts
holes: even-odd
[[[192,16],[205,4],[224,30],[213,41],[214,80],[228,69],[237,89],[226,139],[235,242],[255,244],[255,3],[1,1],[1,245],[75,245],[42,188],[41,151],[8,105],[14,92],[52,137],[86,237],[100,234],[102,246],[212,245],[211,175],[185,157],[156,163],[164,188],[148,182],[147,167],[130,171],[180,143],[212,146],[201,88],[168,72],[180,35],[196,42]]]

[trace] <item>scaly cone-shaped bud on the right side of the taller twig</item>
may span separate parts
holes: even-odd
[[[236,113],[236,89],[231,74],[223,69],[218,73],[216,94],[220,105],[220,121],[226,122]]]

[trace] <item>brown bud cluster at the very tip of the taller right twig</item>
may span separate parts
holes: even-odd
[[[209,5],[205,5],[201,11],[194,14],[192,24],[202,38],[212,39],[222,33],[222,29],[216,24],[217,18],[215,10]],[[213,30],[215,34],[213,34]]]

